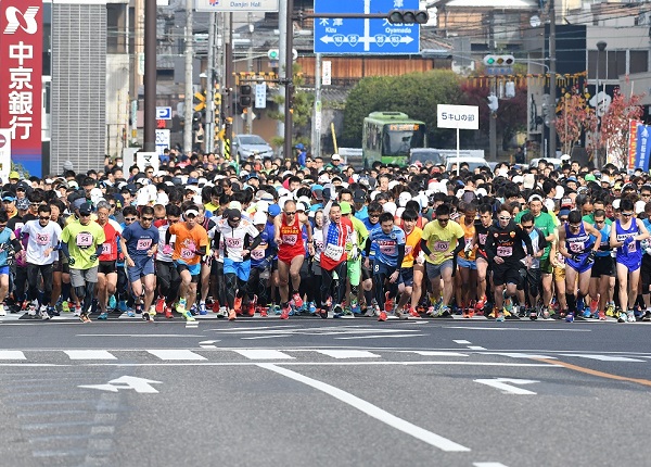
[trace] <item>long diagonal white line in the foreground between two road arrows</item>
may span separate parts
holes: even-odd
[[[445,452],[469,452],[470,451],[469,447],[462,446],[461,444],[458,444],[451,440],[448,440],[447,438],[444,438],[436,433],[427,431],[427,430],[425,430],[421,427],[418,427],[407,420],[404,420],[403,418],[398,418],[395,415],[392,415],[388,412],[383,411],[382,408],[380,408],[362,399],[359,399],[356,395],[350,394],[349,392],[346,392],[339,388],[335,388],[331,384],[318,381],[312,378],[308,378],[306,376],[303,376],[303,375],[292,371],[290,369],[279,367],[275,364],[261,363],[261,364],[258,364],[258,366],[260,368],[265,368],[270,371],[275,371],[279,375],[282,375],[284,377],[288,377],[290,379],[293,379],[294,381],[298,381],[304,384],[307,384],[318,391],[324,392],[326,394],[331,395],[331,396],[344,402],[345,404],[350,405],[354,408],[357,408],[358,411],[367,414],[368,416],[373,417],[376,420],[380,420],[380,421],[388,425],[390,427],[393,427],[399,431],[403,431],[403,432],[405,432],[418,440],[421,440],[434,447],[438,447],[442,451],[445,451]]]

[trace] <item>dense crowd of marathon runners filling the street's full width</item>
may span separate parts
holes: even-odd
[[[216,313],[651,319],[651,180],[608,164],[445,172],[214,154],[24,178],[0,210],[0,316]],[[3,180],[4,181],[4,180]]]

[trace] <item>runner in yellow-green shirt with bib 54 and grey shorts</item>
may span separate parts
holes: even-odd
[[[92,204],[79,207],[79,219],[65,226],[61,232],[61,250],[68,257],[71,283],[82,301],[79,319],[90,323],[90,312],[98,282],[99,257],[102,254],[104,229],[91,220]]]

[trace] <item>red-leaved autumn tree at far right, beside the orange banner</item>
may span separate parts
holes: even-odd
[[[612,162],[618,167],[624,167],[626,163],[629,122],[642,116],[643,110],[640,106],[642,97],[642,94],[631,94],[626,98],[620,88],[615,88],[611,104],[601,117],[599,147],[605,148],[604,155],[608,157],[608,162]],[[598,166],[604,164],[607,157],[600,156]]]

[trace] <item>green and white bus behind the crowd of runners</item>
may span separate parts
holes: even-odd
[[[409,151],[426,148],[427,128],[424,122],[409,118],[401,112],[372,112],[363,119],[361,136],[362,163],[370,168],[374,162],[409,164]]]

